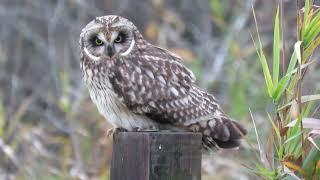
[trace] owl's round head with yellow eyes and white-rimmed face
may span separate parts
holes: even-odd
[[[112,59],[127,56],[141,36],[129,20],[115,15],[101,16],[92,20],[80,35],[80,48],[91,60]]]

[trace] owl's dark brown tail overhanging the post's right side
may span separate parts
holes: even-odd
[[[247,131],[238,122],[226,117],[190,124],[189,129],[202,134],[205,149],[236,148]]]

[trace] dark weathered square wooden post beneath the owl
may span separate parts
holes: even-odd
[[[110,173],[111,180],[200,180],[201,134],[116,133]]]

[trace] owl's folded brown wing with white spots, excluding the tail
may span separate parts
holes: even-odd
[[[218,109],[180,57],[156,46],[119,60],[113,72],[110,81],[127,107],[156,121],[190,124]]]

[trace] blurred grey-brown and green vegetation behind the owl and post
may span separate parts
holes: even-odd
[[[110,125],[84,87],[78,49],[81,29],[107,14],[127,17],[150,42],[183,57],[197,83],[249,130],[239,151],[204,156],[203,179],[259,178],[253,171],[261,157],[252,117],[263,146],[272,129],[268,113],[275,109],[251,37],[257,37],[252,6],[269,58],[278,3],[1,0],[0,179],[108,179],[112,139],[105,133]],[[297,40],[296,2],[282,5],[281,36],[289,60]],[[319,53],[311,59],[319,59]],[[319,88],[319,63],[313,63],[302,93],[316,94]],[[320,118],[317,102],[310,109]]]

